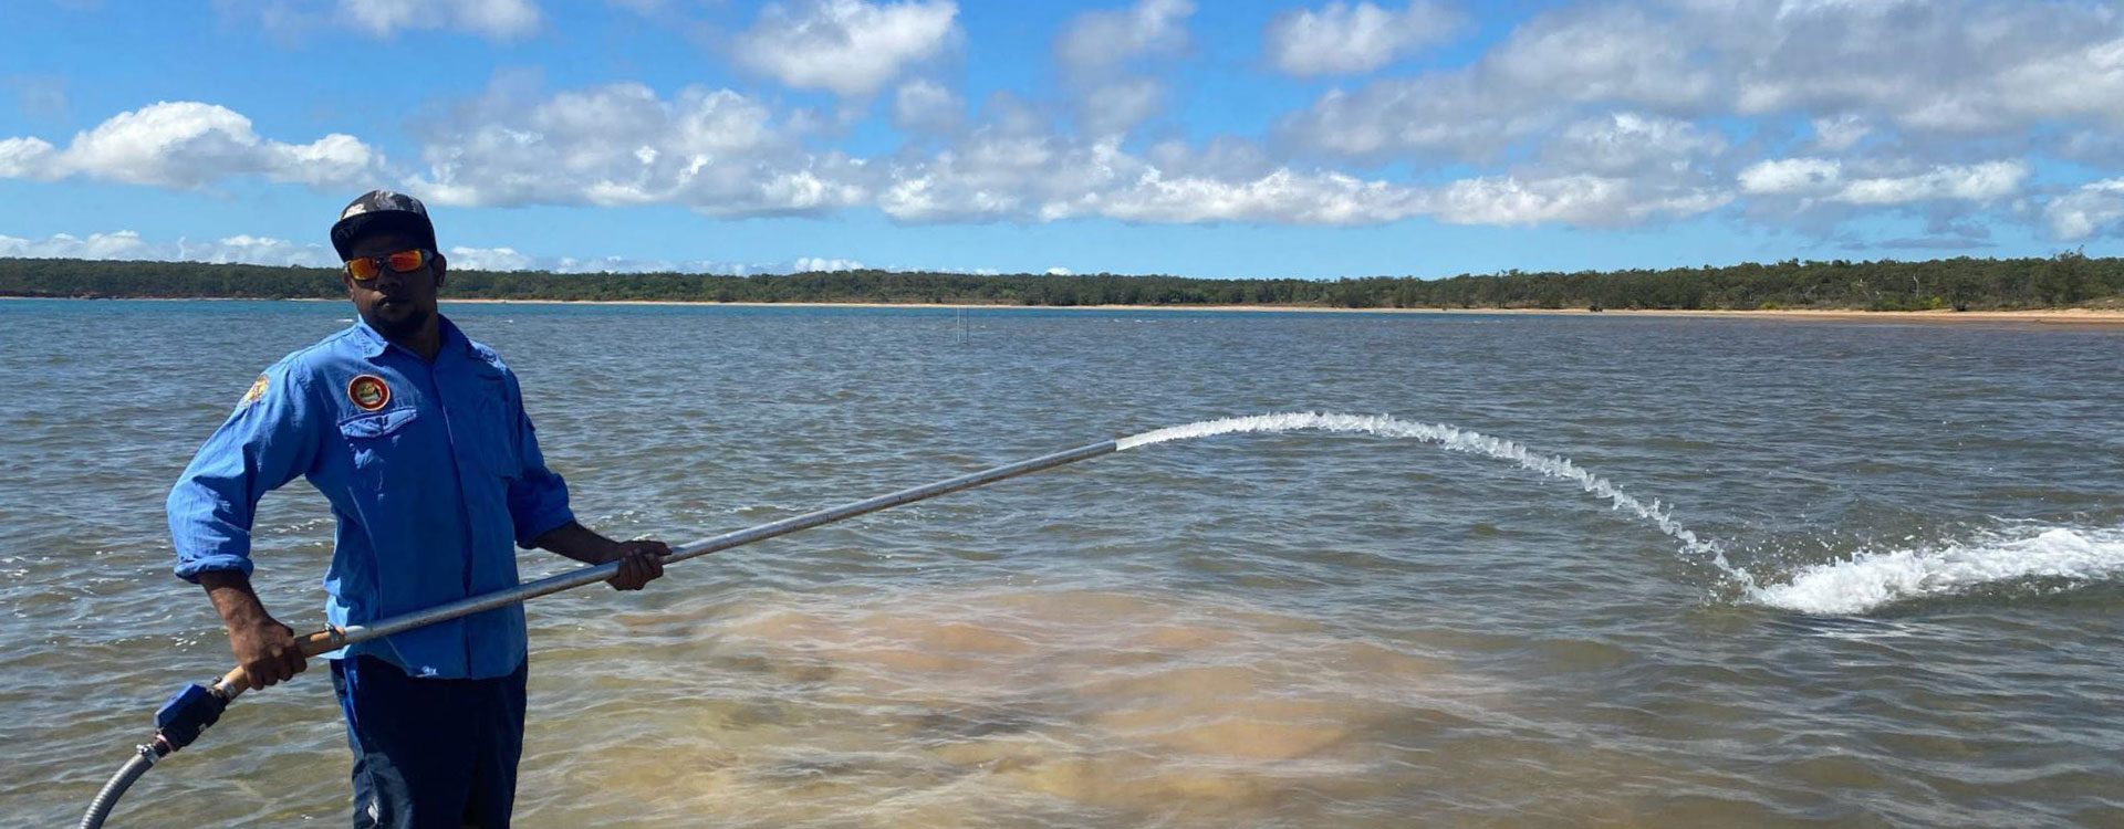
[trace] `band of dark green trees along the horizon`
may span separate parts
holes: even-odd
[[[8,297],[344,297],[336,269],[81,259],[0,259]],[[746,303],[1313,305],[1595,310],[2020,310],[2124,305],[2124,259],[1782,261],[1442,280],[1189,280],[1177,276],[788,276],[450,271],[446,299],[667,299]]]

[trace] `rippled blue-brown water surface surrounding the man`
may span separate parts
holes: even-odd
[[[1198,420],[1402,424],[1151,443],[539,600],[527,827],[2124,825],[2124,333],[446,312],[622,536]],[[4,823],[79,818],[227,668],[161,498],[348,316],[0,303]],[[297,628],[329,532],[304,483],[261,511],[259,592]],[[312,670],[113,827],[340,825],[346,772]]]

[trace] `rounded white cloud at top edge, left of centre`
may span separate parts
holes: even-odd
[[[941,53],[958,32],[956,15],[949,0],[767,4],[737,36],[735,57],[788,87],[869,95]]]

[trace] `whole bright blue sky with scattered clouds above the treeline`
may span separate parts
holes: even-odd
[[[0,254],[1453,276],[2113,254],[2118,2],[19,0]]]

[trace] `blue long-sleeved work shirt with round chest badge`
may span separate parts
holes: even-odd
[[[442,322],[435,360],[365,322],[274,363],[170,490],[176,575],[251,575],[251,517],[306,477],[338,519],[325,617],[359,625],[516,585],[516,545],[573,519],[523,392],[493,350]],[[506,606],[327,653],[412,676],[508,676],[525,611]]]

